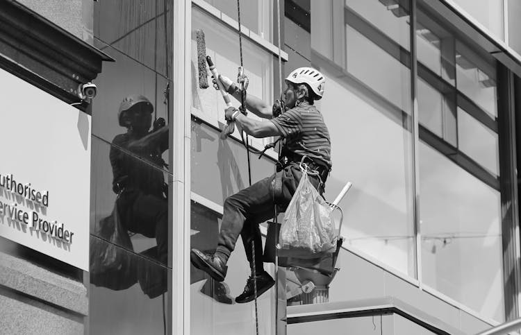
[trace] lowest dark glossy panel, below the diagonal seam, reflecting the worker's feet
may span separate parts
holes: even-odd
[[[90,268],[90,334],[171,334],[167,295],[172,269],[92,235],[90,243],[117,252],[125,264],[106,276]]]

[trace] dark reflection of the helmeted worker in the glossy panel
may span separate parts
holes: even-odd
[[[159,118],[150,131],[152,112],[154,106],[144,96],[123,99],[117,117],[127,131],[114,137],[110,164],[122,224],[131,232],[156,237],[157,258],[167,264],[168,204],[161,156],[168,148],[168,127]]]

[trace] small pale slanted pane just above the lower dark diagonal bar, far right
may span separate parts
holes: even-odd
[[[458,141],[461,151],[494,175],[499,175],[497,133],[461,108],[458,108]]]

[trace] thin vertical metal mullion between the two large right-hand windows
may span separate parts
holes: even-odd
[[[420,287],[422,285],[422,235],[420,230],[420,171],[418,162],[418,147],[420,146],[419,138],[419,117],[418,117],[418,103],[417,103],[417,42],[416,42],[416,0],[411,0],[411,12],[409,22],[411,22],[411,116],[412,116],[412,151],[413,151],[413,218],[414,218],[414,233],[416,238],[415,245],[415,277],[418,280]]]

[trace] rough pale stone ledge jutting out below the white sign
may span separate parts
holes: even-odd
[[[74,313],[88,315],[87,289],[82,283],[1,252],[0,285]]]

